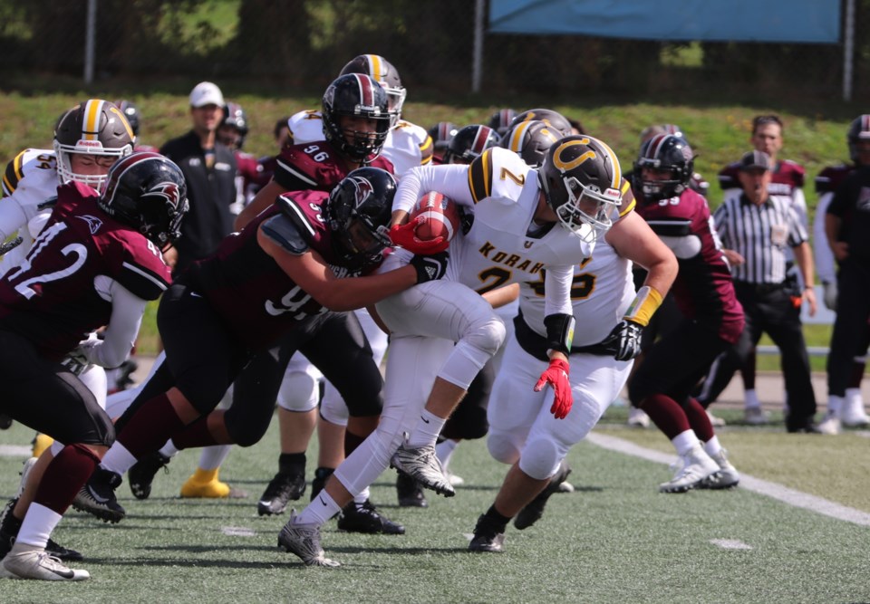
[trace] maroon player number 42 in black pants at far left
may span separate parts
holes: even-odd
[[[3,570],[13,577],[90,576],[46,551],[114,439],[111,419],[76,373],[91,364],[115,367],[130,354],[146,303],[169,286],[161,250],[178,236],[187,209],[184,177],[169,159],[121,158],[102,194],[78,181],[57,188],[33,250],[0,280],[0,366],[8,395],[0,408],[55,438],[23,520],[14,513],[4,519],[3,541],[14,545]],[[103,325],[102,340],[80,341]]]

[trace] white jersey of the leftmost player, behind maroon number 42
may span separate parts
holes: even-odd
[[[0,241],[19,235],[22,244],[0,260],[0,274],[17,266],[34,244],[52,214],[45,202],[57,196],[57,161],[52,149],[24,149],[9,164],[3,176],[0,200]]]

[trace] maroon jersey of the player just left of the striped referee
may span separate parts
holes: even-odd
[[[634,211],[672,249],[680,265],[671,288],[677,306],[689,319],[717,329],[722,340],[734,343],[743,331],[743,307],[710,226],[707,200],[691,189],[649,203],[642,195]]]

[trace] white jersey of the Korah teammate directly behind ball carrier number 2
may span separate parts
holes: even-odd
[[[577,325],[573,347],[604,340],[622,321],[634,295],[632,263],[616,254],[602,237],[592,257],[574,267],[571,303]],[[520,283],[519,309],[532,331],[546,337],[543,279]]]

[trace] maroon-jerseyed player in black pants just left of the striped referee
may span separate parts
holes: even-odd
[[[662,493],[739,482],[710,417],[691,397],[710,363],[738,340],[744,324],[729,266],[710,227],[707,201],[689,187],[693,164],[684,139],[659,134],[643,144],[633,170],[637,212],[680,264],[672,292],[683,318],[645,351],[629,384],[632,405],[643,408],[680,455],[676,474],[659,486]]]

